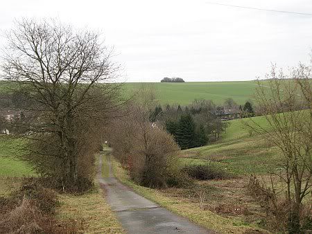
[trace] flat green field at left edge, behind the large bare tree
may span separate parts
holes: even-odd
[[[3,140],[0,136],[0,177],[23,177],[34,175],[31,167],[14,156],[19,154],[17,140]]]

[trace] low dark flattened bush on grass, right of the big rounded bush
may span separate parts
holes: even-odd
[[[228,172],[225,172],[211,163],[187,165],[182,168],[182,171],[186,172],[189,177],[199,180],[229,179],[231,177]]]

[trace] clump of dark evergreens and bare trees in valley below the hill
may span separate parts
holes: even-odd
[[[182,150],[200,147],[216,141],[228,126],[218,116],[218,108],[211,100],[194,100],[184,107],[157,105],[150,121],[162,125]]]

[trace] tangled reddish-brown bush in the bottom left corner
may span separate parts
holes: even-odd
[[[0,233],[78,233],[77,221],[55,219],[56,206],[53,190],[28,179],[10,196],[0,197]]]

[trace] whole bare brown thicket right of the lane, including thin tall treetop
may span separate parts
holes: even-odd
[[[110,143],[114,155],[128,169],[137,183],[153,188],[173,186],[178,181],[179,147],[161,125],[150,123],[155,98],[150,89],[142,88],[128,105],[127,113],[112,125]]]

